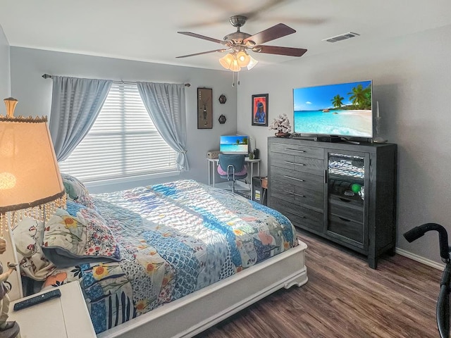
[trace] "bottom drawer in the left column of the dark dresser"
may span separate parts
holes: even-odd
[[[323,232],[323,213],[271,196],[271,208],[285,215],[296,227]]]

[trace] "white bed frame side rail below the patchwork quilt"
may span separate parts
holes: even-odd
[[[236,275],[166,303],[117,327],[97,334],[99,338],[192,337],[259,301],[278,289],[307,283],[304,251],[294,248],[268,258]]]

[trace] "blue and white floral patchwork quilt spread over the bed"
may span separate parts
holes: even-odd
[[[94,195],[121,261],[58,269],[78,280],[97,333],[297,245],[277,211],[192,180]]]

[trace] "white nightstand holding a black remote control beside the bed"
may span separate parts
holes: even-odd
[[[23,310],[14,311],[13,306],[17,301],[11,301],[8,320],[16,320],[20,326],[22,338],[95,338],[96,334],[80,284],[70,282],[61,285],[58,289],[61,291],[61,297]],[[39,294],[42,293],[44,292],[39,292]]]

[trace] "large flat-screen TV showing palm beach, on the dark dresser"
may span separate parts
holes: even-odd
[[[370,80],[293,89],[293,109],[295,132],[373,136]]]

